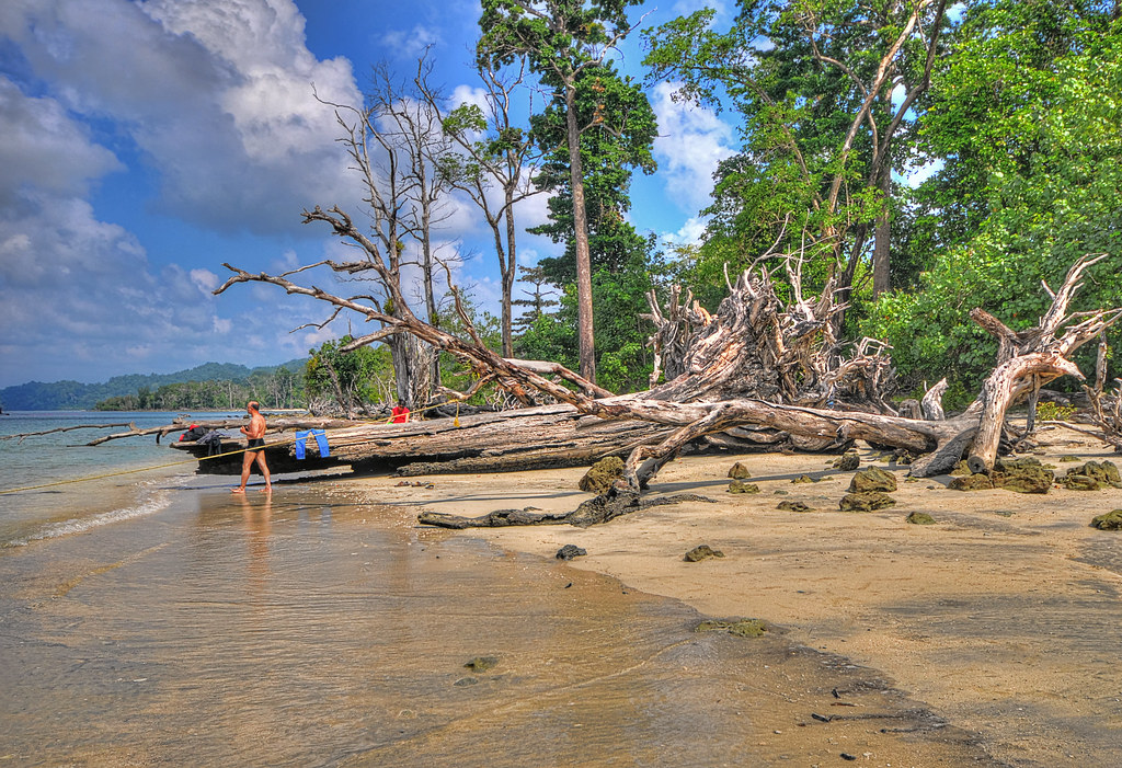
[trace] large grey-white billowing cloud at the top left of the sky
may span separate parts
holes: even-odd
[[[11,0],[0,35],[66,109],[135,141],[167,215],[295,232],[303,207],[355,197],[312,93],[360,103],[350,63],[315,59],[292,0]]]

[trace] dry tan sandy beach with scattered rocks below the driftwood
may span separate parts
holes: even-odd
[[[1065,455],[1118,461],[1102,444],[1063,428],[1041,433],[1041,444],[1039,459],[1057,474],[1078,466],[1060,463]],[[954,491],[948,476],[908,479],[907,466],[858,447],[862,468],[896,475],[895,507],[838,511],[853,473],[833,469],[834,456],[688,456],[669,464],[652,491],[699,493],[716,503],[657,507],[587,529],[445,535],[484,538],[542,558],[573,544],[588,554],[565,567],[614,576],[625,589],[683,601],[708,617],[763,619],[787,642],[883,675],[885,688],[958,729],[953,741],[976,739],[984,757],[975,760],[1122,764],[1122,534],[1088,527],[1095,515],[1122,507],[1122,491]],[[748,468],[761,493],[727,492],[736,461]],[[589,498],[576,490],[582,474],[434,475],[423,479],[430,488],[388,478],[358,484],[383,503],[475,516],[526,506],[572,509]],[[817,482],[793,482],[803,474]],[[812,511],[776,509],[784,500]],[[913,510],[930,513],[936,524],[905,522]],[[683,554],[700,544],[724,557],[684,562]],[[773,759],[843,765],[838,756],[845,752],[845,760],[866,765],[956,765],[938,762],[937,750],[909,751],[907,740],[893,735],[909,729],[831,716],[867,714],[875,702],[845,701],[837,690],[803,690],[792,681],[784,693],[782,670],[772,673],[774,679],[761,679],[760,690],[775,685],[778,695],[761,694],[756,725]]]

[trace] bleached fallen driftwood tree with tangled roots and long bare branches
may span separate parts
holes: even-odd
[[[356,240],[361,238],[360,233],[350,232],[353,229],[350,221],[340,213],[321,212],[320,218],[331,220],[340,234]],[[573,391],[541,366],[504,360],[479,344],[423,323],[407,308],[401,307],[399,316],[390,316],[365,303],[365,297],[333,296],[314,286],[296,285],[283,275],[250,275],[227,265],[234,276],[215,293],[238,283],[270,283],[289,294],[312,296],[337,309],[361,313],[380,325],[380,330],[356,340],[355,344],[371,343],[394,333],[414,334],[456,355],[478,377],[519,394],[519,399],[528,398],[530,392],[536,390],[562,404],[559,406],[562,410],[554,411],[553,417],[568,411],[570,417],[558,423],[567,426],[554,424],[546,428],[534,420],[541,418],[540,413],[514,411],[494,422],[503,425],[506,441],[493,455],[521,453],[540,461],[549,450],[549,442],[558,434],[565,434],[554,429],[569,429],[574,419],[576,425],[569,434],[577,435],[581,428],[588,429],[581,427],[582,424],[597,424],[596,451],[579,450],[587,451],[589,459],[629,451],[625,478],[634,490],[638,490],[684,446],[745,426],[762,426],[819,441],[865,439],[926,454],[912,466],[913,474],[918,475],[949,469],[963,451],[969,448],[972,466],[988,471],[1008,408],[1027,394],[1032,382],[1042,383],[1064,374],[1077,376],[1078,370],[1068,355],[1122,315],[1122,309],[1091,313],[1083,315],[1077,324],[1063,329],[1080,275],[1101,258],[1080,259],[1072,268],[1060,290],[1052,295],[1049,313],[1036,329],[1013,332],[992,315],[976,313],[975,320],[999,339],[1000,364],[978,399],[964,414],[944,420],[894,415],[884,400],[884,381],[891,373],[889,360],[882,354],[884,350],[867,342],[852,357],[844,358],[844,348],[830,330],[830,320],[840,308],[834,302],[831,287],[828,285],[815,302],[803,299],[798,280],[800,262],[792,259],[785,261],[793,286],[791,303],[784,304],[778,298],[769,272],[745,271],[735,285],[730,284],[730,294],[717,312],[708,318],[698,314],[702,325],[680,340],[680,349],[674,352],[680,355],[680,366],[678,362],[673,366],[673,370],[680,368],[679,376],[647,392],[620,397],[597,397],[598,394],[590,394],[585,386],[581,387],[583,391]],[[324,263],[348,272],[367,268],[362,263]],[[1063,335],[1057,335],[1061,330]],[[528,429],[517,427],[521,419],[525,419]],[[646,426],[632,424],[628,429],[616,426],[624,422]],[[426,426],[414,429],[407,435],[386,435],[384,442],[369,432],[356,432],[350,437],[342,436],[340,453],[344,456],[351,451],[362,456],[424,455],[423,445],[434,444],[442,434],[441,429]],[[586,432],[586,435],[592,434]],[[523,437],[526,435],[528,437]],[[601,436],[604,441],[596,443]],[[475,448],[462,433],[458,437],[463,453],[460,459],[466,462],[463,466],[477,466],[489,457],[486,447],[475,456],[467,455]],[[352,439],[353,446],[348,446],[347,439]],[[516,441],[522,439],[527,442],[517,445]]]

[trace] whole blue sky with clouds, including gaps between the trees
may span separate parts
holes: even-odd
[[[647,2],[633,19],[647,13],[649,27],[707,4],[723,11]],[[357,104],[373,65],[405,75],[430,45],[433,81],[450,102],[470,98],[478,13],[476,0],[0,2],[0,387],[276,364],[346,333],[343,318],[294,332],[327,313],[279,288],[211,290],[224,261],[275,272],[342,255],[324,228],[301,224],[318,204],[358,211],[313,83]],[[628,44],[625,68],[641,59]],[[673,103],[672,90],[649,93],[660,170],[636,176],[632,219],[689,241],[735,129]],[[544,210],[532,198],[521,223]],[[467,201],[452,214],[438,237],[462,255],[456,279],[497,312],[481,216]],[[519,242],[526,265],[557,252],[542,238]]]

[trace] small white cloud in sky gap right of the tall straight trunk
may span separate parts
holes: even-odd
[[[735,131],[707,108],[673,100],[677,86],[659,83],[652,107],[659,119],[654,152],[666,178],[666,194],[683,211],[705,207],[712,174],[735,154]]]

